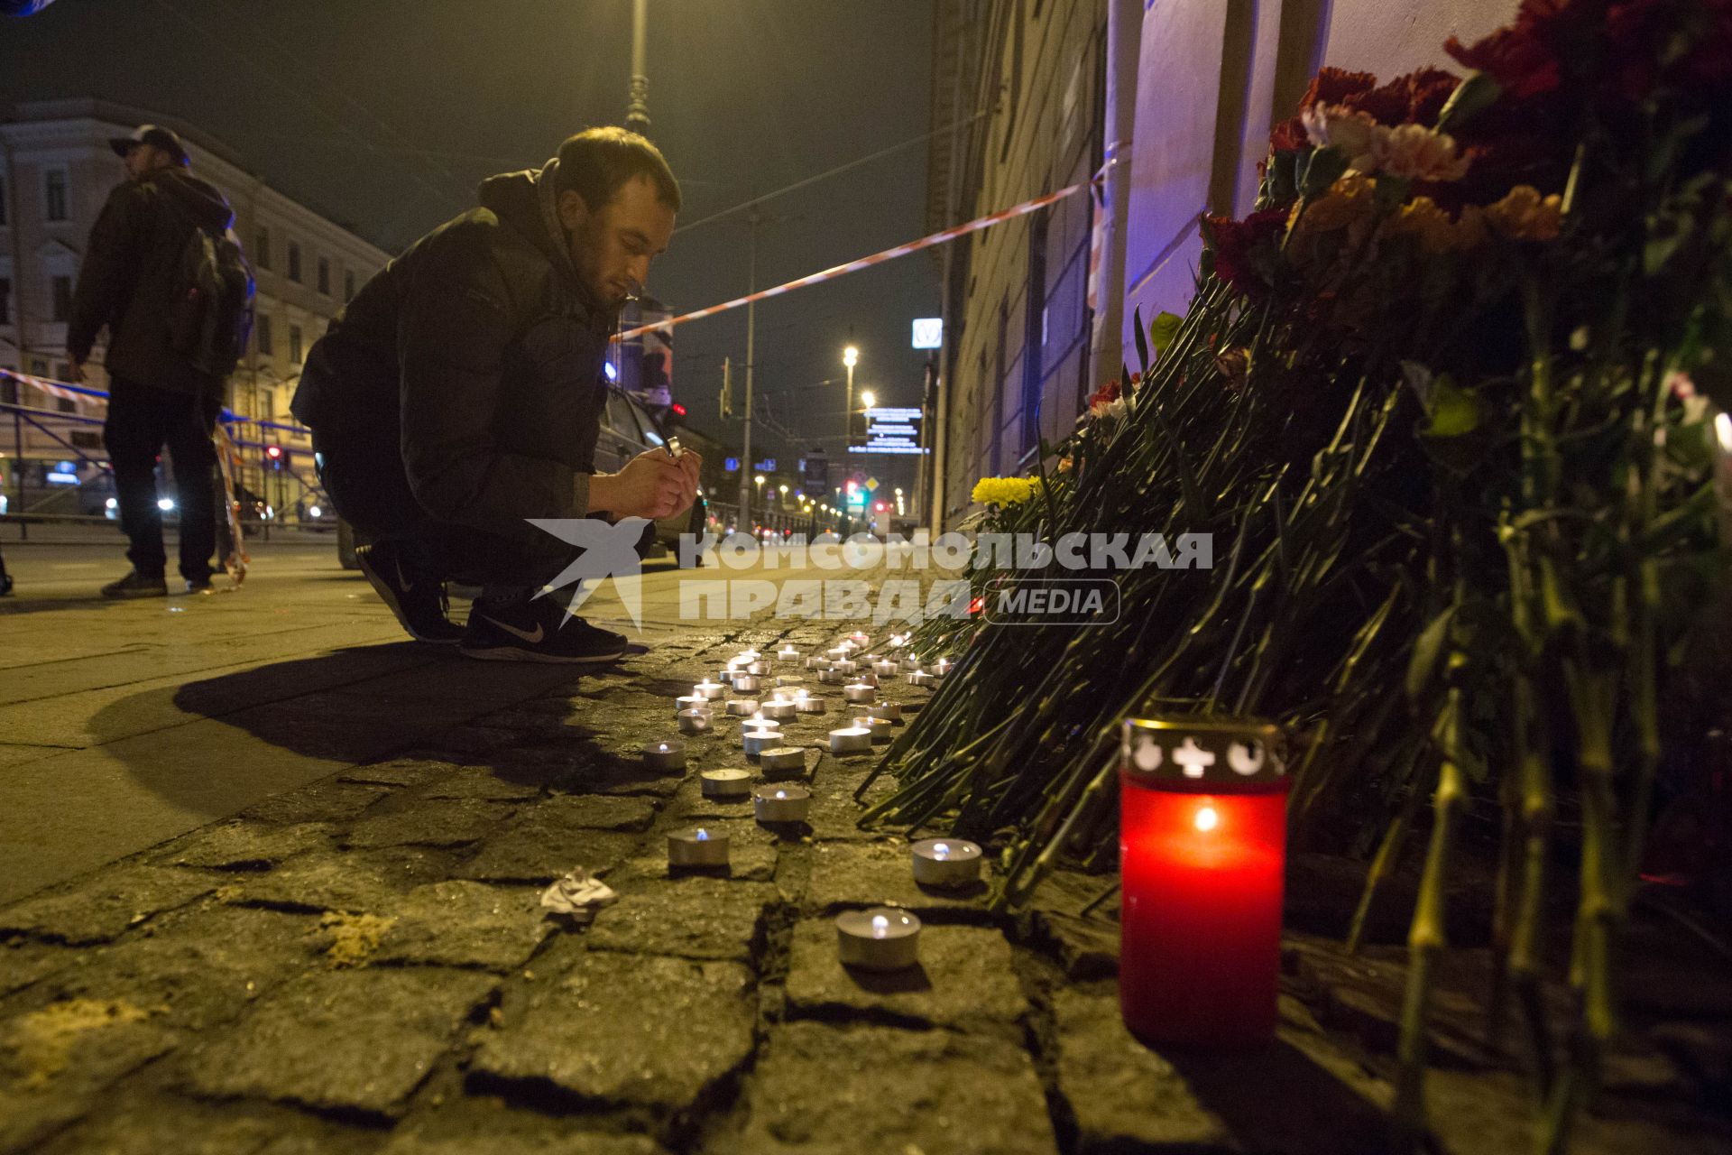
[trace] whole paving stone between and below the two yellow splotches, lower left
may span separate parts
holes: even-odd
[[[395,1117],[494,987],[435,968],[310,973],[187,1048],[182,1079],[211,1098]]]

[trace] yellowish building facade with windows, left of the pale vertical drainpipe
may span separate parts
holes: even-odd
[[[934,173],[944,184],[934,211],[954,218],[942,223],[1088,180],[1103,147],[1105,0],[937,7],[934,128],[951,123],[953,106],[963,118],[994,109],[932,154],[944,168]],[[951,246],[940,384],[947,514],[966,507],[975,480],[1017,473],[1039,438],[1065,436],[1093,388],[1093,211],[1077,194]]]

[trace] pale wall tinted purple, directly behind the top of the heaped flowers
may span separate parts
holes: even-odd
[[[1271,125],[1332,64],[1396,76],[1453,68],[1443,42],[1476,40],[1517,0],[1167,0],[1145,5],[1136,78],[1126,287],[1143,317],[1183,312],[1199,211],[1251,211]],[[1126,331],[1129,341],[1129,331]]]

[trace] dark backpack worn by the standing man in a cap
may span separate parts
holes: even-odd
[[[227,377],[253,331],[253,267],[234,229],[216,232],[194,222],[171,284],[170,345],[199,372]]]

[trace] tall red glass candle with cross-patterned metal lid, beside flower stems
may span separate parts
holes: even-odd
[[[1287,776],[1268,722],[1131,719],[1119,769],[1119,1008],[1143,1042],[1275,1030]]]

